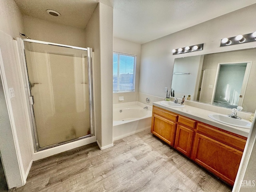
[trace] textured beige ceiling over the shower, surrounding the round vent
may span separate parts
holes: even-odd
[[[84,29],[99,0],[14,0],[22,14]],[[52,9],[61,16],[46,13]]]

